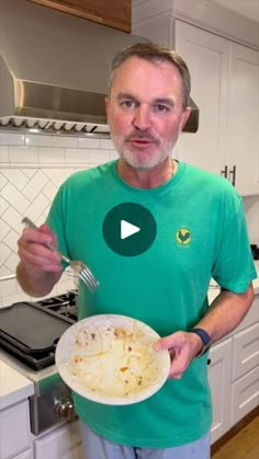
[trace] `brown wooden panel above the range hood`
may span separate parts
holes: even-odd
[[[132,0],[29,0],[123,32],[132,28]]]

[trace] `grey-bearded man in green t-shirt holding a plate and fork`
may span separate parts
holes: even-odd
[[[164,336],[157,352],[172,354],[166,385],[146,401],[110,406],[74,394],[87,459],[210,458],[206,351],[247,313],[256,271],[234,187],[171,159],[189,93],[174,51],[138,44],[116,56],[105,103],[119,161],[69,177],[48,226],[19,240],[18,278],[30,295],[48,294],[59,279],[60,257],[44,245],[58,241],[100,280],[97,294],[80,284],[79,319],[134,317]],[[119,238],[123,221],[139,234]],[[209,308],[212,277],[222,290]]]

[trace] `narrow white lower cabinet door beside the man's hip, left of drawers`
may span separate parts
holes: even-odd
[[[210,353],[209,382],[212,392],[212,443],[230,428],[232,340],[213,346]]]

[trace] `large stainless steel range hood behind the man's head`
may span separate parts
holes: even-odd
[[[109,66],[124,46],[147,42],[26,0],[0,0],[0,129],[110,137]],[[184,130],[195,133],[199,110]]]

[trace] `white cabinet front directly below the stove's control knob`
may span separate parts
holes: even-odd
[[[78,421],[34,440],[34,459],[83,459]]]

